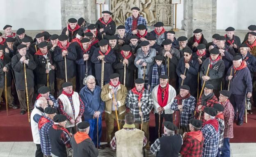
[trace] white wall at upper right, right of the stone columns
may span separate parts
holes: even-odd
[[[256,0],[217,0],[217,29],[247,30],[256,24],[255,6]]]

